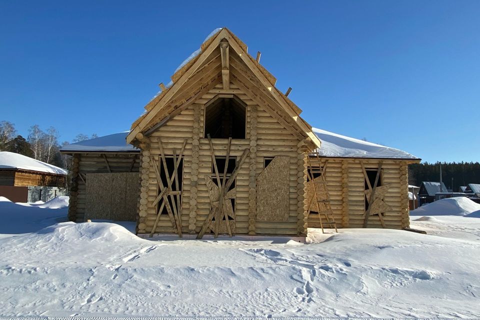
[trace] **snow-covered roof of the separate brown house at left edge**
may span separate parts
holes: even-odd
[[[67,174],[65,169],[59,168],[23,154],[0,151],[0,169],[21,169],[45,173]]]

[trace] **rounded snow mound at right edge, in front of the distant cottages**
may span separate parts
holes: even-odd
[[[467,215],[480,210],[480,204],[467,197],[457,196],[437,200],[410,211],[410,215]]]

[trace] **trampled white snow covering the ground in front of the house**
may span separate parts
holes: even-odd
[[[60,210],[9,212],[22,207]],[[475,317],[480,222],[429,218],[412,224],[441,236],[309,229],[308,244],[140,239],[113,223],[57,223],[0,238],[0,315]]]

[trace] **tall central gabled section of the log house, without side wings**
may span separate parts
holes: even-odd
[[[226,28],[145,106],[138,233],[305,235],[305,154],[320,146],[300,109]]]

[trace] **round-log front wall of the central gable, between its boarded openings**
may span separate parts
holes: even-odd
[[[173,151],[178,155],[183,141],[187,141],[183,152],[182,233],[198,233],[210,212],[210,199],[204,179],[212,174],[212,160],[208,139],[203,137],[204,105],[219,93],[235,94],[246,104],[245,139],[232,139],[230,147],[230,157],[235,156],[237,162],[244,149],[249,149],[249,155],[235,180],[235,233],[304,234],[304,214],[298,214],[298,206],[303,207],[303,188],[300,192],[297,189],[300,171],[303,176],[303,166],[299,171],[297,164],[299,139],[233,83],[230,83],[227,90],[221,84],[215,86],[149,136],[148,152],[156,164],[160,161],[158,140],[162,143],[165,155],[172,154]],[[216,156],[226,155],[227,139],[212,139],[212,144]],[[263,170],[264,158],[277,155],[290,158],[288,219],[284,222],[257,221],[256,177]],[[139,211],[144,216],[139,216],[138,233],[150,233],[157,218],[158,204],[153,205],[158,194],[155,172],[151,163],[145,165],[145,169],[148,169],[145,171],[147,176],[142,175],[142,186],[147,188],[147,196]],[[169,216],[160,215],[154,233],[175,231]]]

